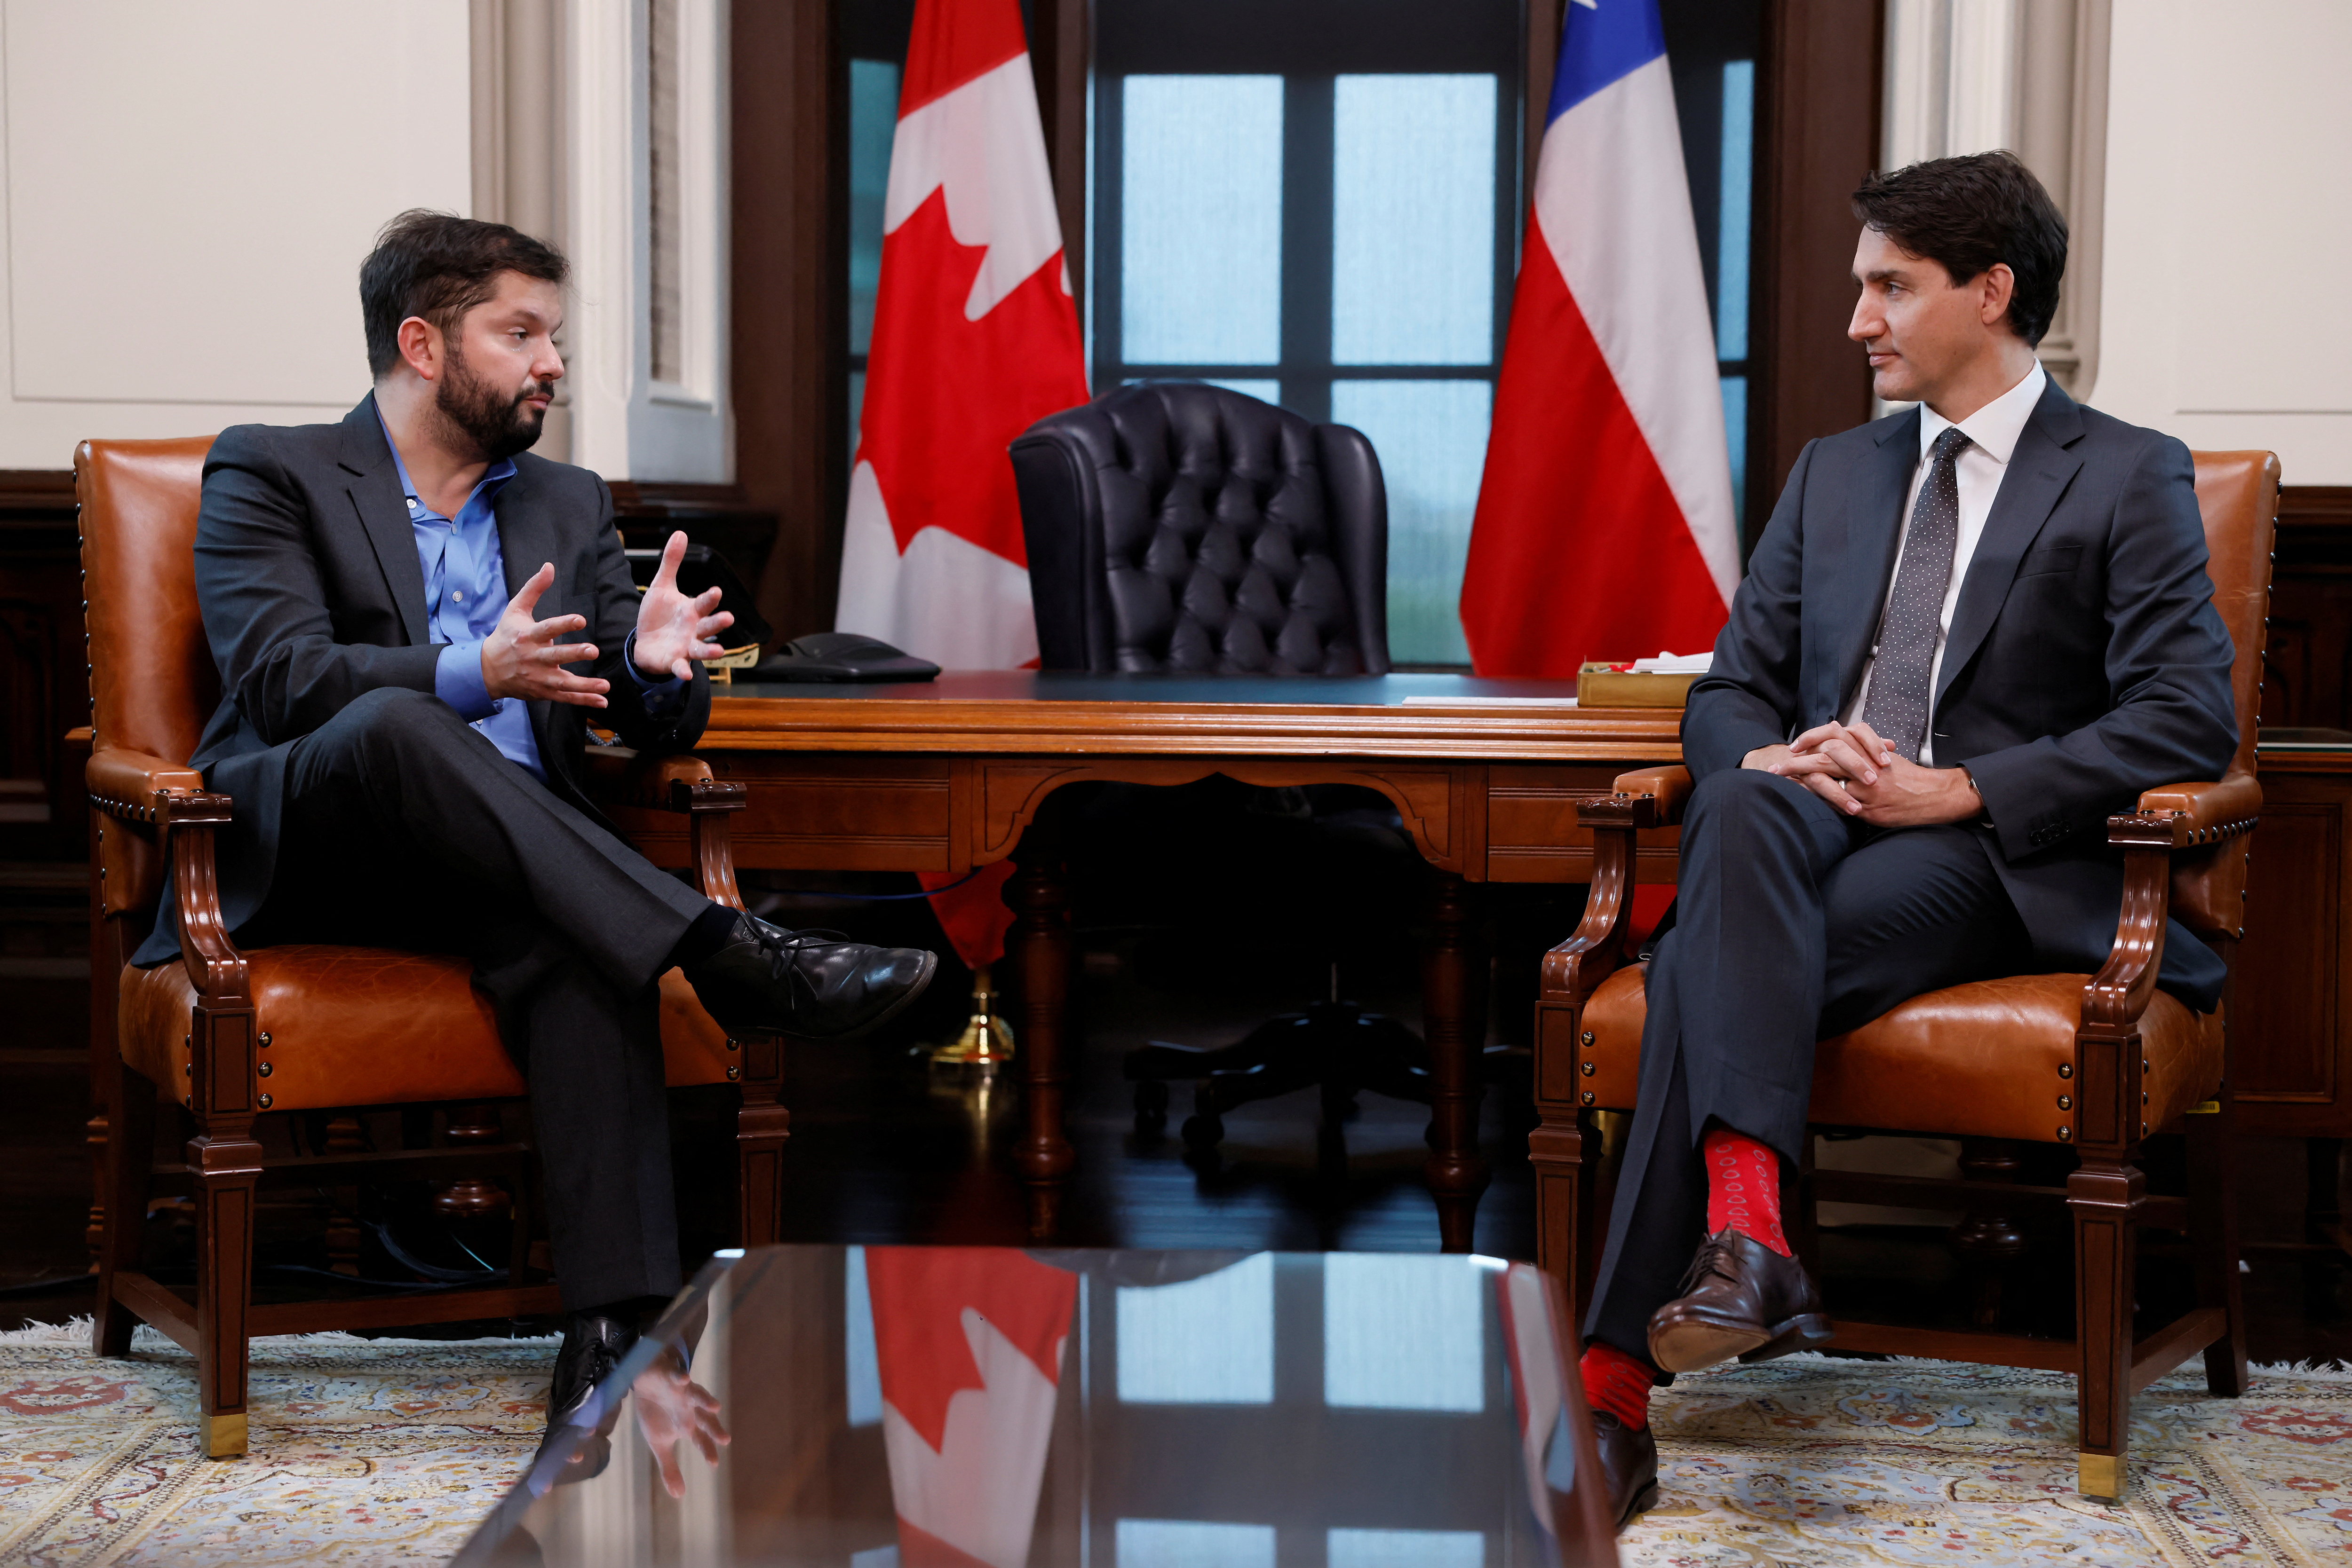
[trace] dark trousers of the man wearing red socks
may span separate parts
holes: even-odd
[[[2032,961],[1997,853],[1983,827],[1865,827],[1773,773],[1698,783],[1588,1338],[1649,1354],[1705,1227],[1710,1121],[1795,1161],[1816,1039]]]

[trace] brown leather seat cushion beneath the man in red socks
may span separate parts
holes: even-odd
[[[1628,964],[1585,1001],[1592,1063],[1578,1091],[1592,1105],[1628,1110],[1642,1070],[1646,964]],[[2011,976],[1912,997],[1860,1030],[1820,1041],[1813,1056],[1818,1126],[1870,1126],[1940,1138],[2023,1138],[2067,1143],[2082,1107],[2079,1084],[2058,1077],[2074,1063],[2082,987],[2091,976]],[[2220,1086],[2220,1013],[2199,1016],[2157,992],[2140,1016],[2147,1058],[2147,1126],[2213,1098]],[[1569,1053],[1557,1053],[1566,1058]],[[2070,1110],[2058,1110],[2058,1098]]]

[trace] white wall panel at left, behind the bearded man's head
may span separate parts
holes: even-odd
[[[0,468],[336,418],[358,266],[468,212],[466,0],[0,0]]]

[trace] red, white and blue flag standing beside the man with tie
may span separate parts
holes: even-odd
[[[1463,574],[1479,675],[1715,644],[1731,456],[1658,0],[1573,0]]]

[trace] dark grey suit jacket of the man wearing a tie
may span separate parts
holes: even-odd
[[[1715,668],[1691,686],[1682,755],[1696,778],[1844,712],[1917,463],[1917,409],[1797,458]],[[2084,409],[2053,381],[1962,581],[1929,722],[1936,764],[1966,764],[1985,797],[2037,964],[2074,973],[2107,959],[2124,889],[2107,816],[2140,790],[2230,766],[2230,654],[2187,447]],[[2164,987],[2211,1009],[2220,980],[2220,959],[2173,924]]]

